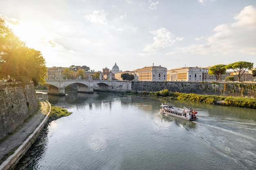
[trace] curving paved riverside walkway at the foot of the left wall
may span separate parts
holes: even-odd
[[[51,111],[49,102],[38,98],[41,108],[28,122],[22,124],[22,127],[12,134],[4,142],[0,143],[0,170],[8,170],[12,165],[16,164],[27,149],[33,144],[34,140],[43,129],[45,123],[49,119],[48,115]],[[2,160],[11,150],[14,153],[7,159]]]

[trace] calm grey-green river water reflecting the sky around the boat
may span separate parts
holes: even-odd
[[[256,167],[256,109],[169,100],[198,120],[159,113],[161,100],[121,94],[40,94],[73,112],[52,121],[15,169],[215,170]]]

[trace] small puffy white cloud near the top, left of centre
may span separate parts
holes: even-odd
[[[97,11],[94,10],[92,14],[85,15],[86,20],[90,20],[93,23],[99,23],[99,24],[108,24],[108,20],[106,19],[107,13],[104,10]]]

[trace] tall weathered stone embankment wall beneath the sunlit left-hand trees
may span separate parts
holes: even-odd
[[[38,108],[34,85],[0,82],[0,139],[11,133]]]

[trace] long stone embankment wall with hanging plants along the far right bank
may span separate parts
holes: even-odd
[[[256,82],[132,82],[132,90],[137,92],[157,92],[163,89],[181,93],[256,98]]]

